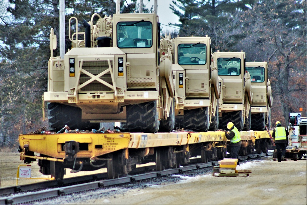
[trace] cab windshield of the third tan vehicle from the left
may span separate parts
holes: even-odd
[[[241,59],[236,57],[217,59],[218,75],[240,75]]]

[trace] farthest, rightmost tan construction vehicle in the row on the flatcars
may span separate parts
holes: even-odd
[[[246,62],[246,71],[251,75],[253,104],[251,105],[251,129],[263,131],[266,124],[270,129],[272,93],[266,62]]]

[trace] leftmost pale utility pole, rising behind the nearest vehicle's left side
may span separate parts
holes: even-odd
[[[60,57],[64,59],[65,54],[65,2],[60,0]]]

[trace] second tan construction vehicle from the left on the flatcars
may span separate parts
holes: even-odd
[[[216,131],[220,91],[217,69],[210,66],[211,39],[176,37],[172,42],[176,127],[196,132]]]

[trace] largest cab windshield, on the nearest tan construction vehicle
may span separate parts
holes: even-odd
[[[152,46],[152,23],[142,21],[117,24],[117,47],[149,48]]]

